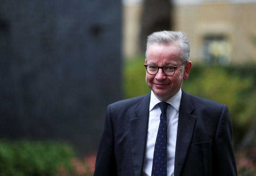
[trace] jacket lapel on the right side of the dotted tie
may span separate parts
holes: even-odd
[[[174,176],[179,176],[181,173],[192,138],[196,121],[196,117],[191,115],[193,109],[194,107],[188,94],[182,90],[176,140]]]

